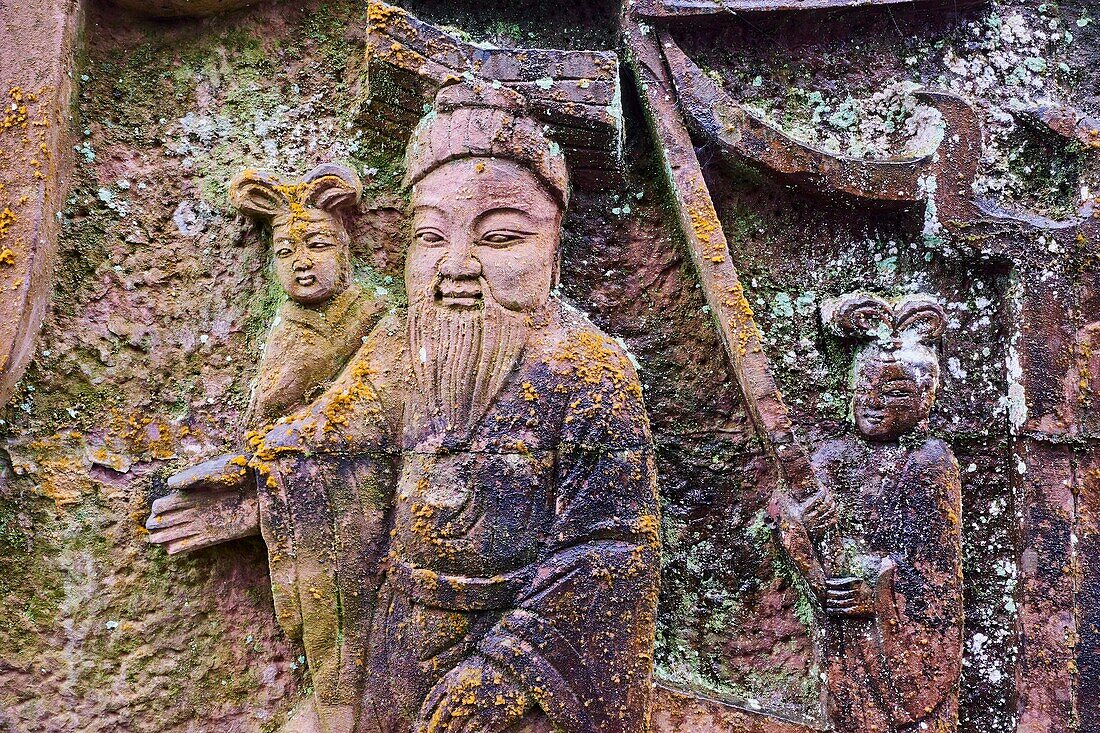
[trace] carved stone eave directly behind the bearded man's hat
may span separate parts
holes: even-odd
[[[441,86],[480,79],[528,99],[562,146],[575,182],[598,184],[620,167],[622,89],[613,52],[481,47],[371,0],[366,56],[361,123],[399,147]]]

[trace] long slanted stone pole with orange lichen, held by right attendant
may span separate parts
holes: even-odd
[[[776,464],[781,485],[778,494],[805,501],[821,491],[805,449],[794,435],[787,405],[776,385],[768,355],[760,343],[752,308],[745,297],[722,222],[688,128],[673,98],[673,86],[656,29],[624,14],[624,29],[631,66],[642,106],[656,139],[661,162],[676,204],[676,215],[688,251],[698,273],[700,285],[729,355],[754,427]],[[771,514],[791,559],[815,590],[825,573],[805,528],[794,522],[778,501]]]

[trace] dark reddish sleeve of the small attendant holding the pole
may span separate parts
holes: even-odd
[[[963,666],[961,484],[941,440],[910,457],[899,481],[901,547],[878,583],[880,648],[871,680],[894,725],[928,718],[958,686]],[[877,669],[875,669],[877,668]]]

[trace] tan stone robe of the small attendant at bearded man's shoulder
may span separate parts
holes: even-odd
[[[264,347],[245,425],[264,425],[319,396],[363,344],[386,305],[354,283],[319,308],[284,303]]]

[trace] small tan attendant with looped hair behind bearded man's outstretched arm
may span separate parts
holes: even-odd
[[[352,282],[350,239],[340,219],[360,190],[359,176],[333,164],[289,183],[246,169],[230,184],[238,209],[271,223],[275,273],[289,297],[264,347],[249,427],[317,397],[382,315],[385,304]]]

